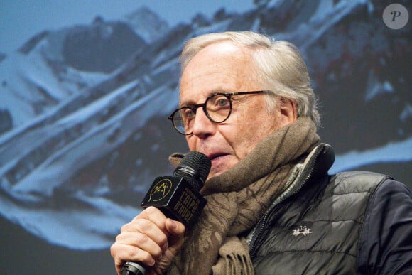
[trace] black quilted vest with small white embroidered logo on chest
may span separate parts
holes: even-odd
[[[322,146],[309,165],[324,161],[320,166],[327,171],[330,159],[322,158],[330,146]],[[327,176],[322,168],[310,170],[298,191],[256,225],[249,244],[256,274],[357,274],[364,213],[386,177],[368,172]]]

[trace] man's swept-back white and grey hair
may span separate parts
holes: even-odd
[[[308,68],[298,48],[292,43],[276,41],[251,31],[208,33],[185,43],[180,55],[182,72],[202,48],[222,41],[232,41],[251,49],[261,84],[270,87],[278,97],[293,99],[298,117],[310,117],[316,125],[320,124],[318,99],[310,86]],[[273,97],[268,98],[272,99],[267,100],[269,109],[273,109]]]

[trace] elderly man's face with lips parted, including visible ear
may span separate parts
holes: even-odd
[[[180,107],[202,104],[217,92],[267,90],[259,85],[253,68],[246,49],[229,41],[208,45],[183,71]],[[234,166],[261,139],[296,119],[295,105],[289,101],[269,113],[264,94],[234,96],[232,103],[229,119],[219,124],[198,108],[193,134],[186,136],[190,151],[205,153],[212,161],[209,178]]]

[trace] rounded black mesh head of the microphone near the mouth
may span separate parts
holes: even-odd
[[[211,166],[210,159],[204,153],[190,151],[182,158],[173,175],[185,178],[199,192],[205,184]]]

